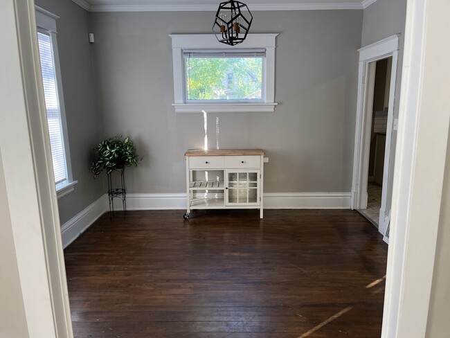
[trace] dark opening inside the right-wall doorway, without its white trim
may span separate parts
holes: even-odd
[[[369,158],[368,158],[368,179],[366,186],[367,202],[366,208],[363,205],[358,210],[372,224],[379,228],[381,197],[383,190],[384,157],[386,154],[386,129],[388,125],[389,96],[390,96],[390,70],[392,69],[392,56],[378,61],[371,62],[375,66],[373,79],[372,105],[368,103],[366,114],[367,121],[370,122],[370,133],[368,133]],[[370,118],[369,118],[370,116]],[[382,221],[382,220],[381,220]]]

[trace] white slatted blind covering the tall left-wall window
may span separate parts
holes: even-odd
[[[37,38],[41,59],[42,80],[44,82],[48,132],[50,134],[53,159],[53,174],[55,175],[55,184],[64,184],[67,181],[67,169],[51,37],[46,33],[38,32]]]

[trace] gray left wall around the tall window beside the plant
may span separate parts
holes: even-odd
[[[71,0],[36,0],[55,15],[64,105],[75,191],[59,199],[61,224],[105,193],[102,178],[94,180],[89,166],[93,145],[104,138],[93,81],[88,13]]]

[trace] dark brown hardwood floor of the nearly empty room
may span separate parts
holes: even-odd
[[[65,251],[75,337],[380,337],[387,245],[356,211],[105,214]]]

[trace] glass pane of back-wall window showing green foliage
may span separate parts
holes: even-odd
[[[187,100],[260,100],[262,57],[187,57]]]

